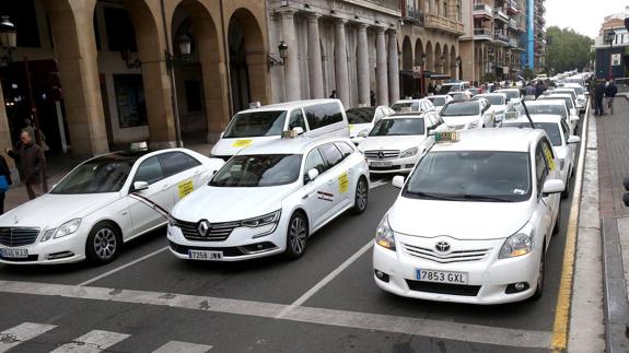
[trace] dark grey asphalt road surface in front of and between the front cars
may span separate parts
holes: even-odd
[[[0,281],[10,281],[0,282],[0,352],[69,343],[94,352],[548,351],[571,198],[548,249],[544,297],[471,306],[397,297],[374,284],[370,244],[397,193],[389,183],[373,188],[365,213],[328,224],[296,261],[183,261],[159,230],[104,267],[0,264]],[[15,329],[24,322],[37,323],[34,338]]]

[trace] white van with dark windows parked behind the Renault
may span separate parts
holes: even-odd
[[[287,130],[314,138],[349,138],[347,116],[339,99],[287,102],[238,111],[212,148],[211,156],[226,161],[246,146],[280,139]]]

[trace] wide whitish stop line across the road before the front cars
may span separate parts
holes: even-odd
[[[0,293],[165,306],[276,319],[289,305],[209,296],[67,284],[0,281]],[[552,332],[509,329],[369,313],[293,307],[281,320],[431,337],[470,343],[549,349]]]

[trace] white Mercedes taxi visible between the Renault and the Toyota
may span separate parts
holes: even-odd
[[[380,120],[358,149],[370,173],[408,173],[428,148],[428,133],[442,125],[434,111],[394,114]]]

